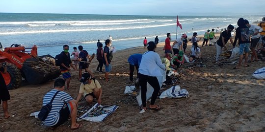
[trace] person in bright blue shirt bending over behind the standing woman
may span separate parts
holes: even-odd
[[[137,70],[137,78],[138,78],[138,69],[140,66],[142,60],[142,54],[133,54],[130,55],[128,58],[128,62],[130,64],[130,81],[133,82],[133,72],[134,72],[134,66]]]

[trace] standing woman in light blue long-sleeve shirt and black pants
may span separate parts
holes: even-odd
[[[155,105],[160,89],[157,76],[162,76],[161,72],[159,71],[159,68],[163,70],[166,70],[166,68],[161,63],[159,54],[155,52],[156,47],[157,45],[153,41],[147,44],[148,51],[142,55],[141,64],[139,66],[139,83],[141,86],[141,99],[142,99],[142,110],[140,111],[140,113],[145,112],[145,110],[147,109],[146,108],[147,82],[154,88],[149,108],[151,110],[161,109],[159,105]]]

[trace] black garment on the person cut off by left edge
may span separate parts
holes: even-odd
[[[6,85],[5,85],[5,82],[4,82],[4,79],[1,73],[0,73],[0,100],[1,101],[10,100],[10,94],[6,88]],[[0,101],[0,104],[1,104],[1,101]]]

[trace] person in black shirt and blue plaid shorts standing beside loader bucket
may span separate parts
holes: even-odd
[[[72,65],[72,61],[70,59],[70,53],[68,52],[69,46],[68,45],[63,45],[63,51],[60,54],[60,69],[63,78],[66,81],[66,88],[69,88],[69,84],[71,81],[71,74],[69,71],[71,71],[70,66],[72,66],[74,69],[75,67]],[[76,70],[76,69],[75,69]]]

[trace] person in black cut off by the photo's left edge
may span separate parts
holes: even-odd
[[[2,101],[4,118],[7,119],[10,117],[10,115],[8,114],[8,110],[7,110],[7,100],[10,100],[10,95],[9,95],[9,92],[6,88],[4,78],[2,76],[2,74],[6,74],[6,72],[7,72],[6,63],[0,64],[0,71],[1,71],[1,73],[0,73],[0,104]]]

